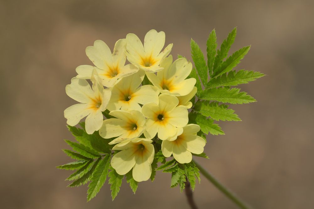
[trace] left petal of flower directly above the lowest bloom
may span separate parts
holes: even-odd
[[[101,128],[99,129],[99,135],[102,138],[117,137],[125,132],[127,132],[127,122],[118,118],[104,120]]]

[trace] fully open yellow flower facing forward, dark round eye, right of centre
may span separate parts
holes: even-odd
[[[177,107],[178,98],[169,94],[159,95],[159,105],[154,102],[143,105],[142,112],[146,119],[144,135],[154,138],[158,133],[161,140],[171,139],[178,135],[181,127],[187,125],[188,112],[185,107]]]

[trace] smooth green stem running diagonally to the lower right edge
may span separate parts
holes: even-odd
[[[235,194],[233,194],[229,189],[223,186],[213,175],[211,175],[207,170],[205,170],[202,165],[199,165],[198,162],[193,160],[195,165],[198,167],[200,172],[208,179],[214,186],[217,187],[222,193],[225,194],[231,201],[233,201],[239,208],[241,209],[251,209],[251,207],[247,206],[246,203],[241,201]]]

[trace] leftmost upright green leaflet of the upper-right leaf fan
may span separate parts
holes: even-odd
[[[192,59],[194,61],[194,65],[198,72],[198,75],[201,78],[203,85],[205,86],[208,80],[208,73],[207,73],[208,69],[206,66],[203,52],[193,39],[191,39],[191,54],[192,54]]]

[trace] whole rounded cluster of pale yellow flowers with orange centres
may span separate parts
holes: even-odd
[[[191,162],[191,153],[203,153],[205,146],[197,135],[200,127],[188,124],[190,100],[197,92],[196,79],[188,78],[192,63],[185,58],[173,61],[172,44],[162,50],[164,45],[165,33],[156,30],[145,35],[144,44],[127,34],[113,52],[97,40],[86,48],[95,66],[78,66],[78,75],[66,86],[67,95],[79,102],[64,111],[68,125],[87,116],[86,133],[98,131],[114,144],[112,168],[119,175],[132,169],[138,182],[151,176],[156,144],[165,157],[172,155],[182,164]],[[104,112],[110,117],[104,119]]]

